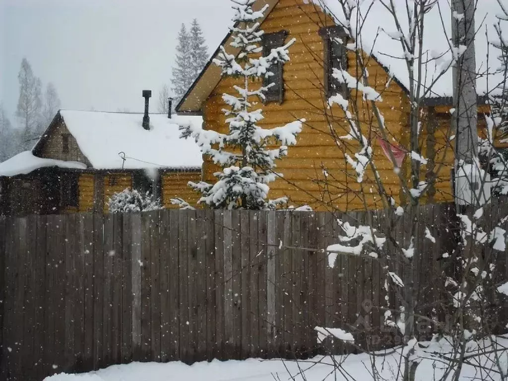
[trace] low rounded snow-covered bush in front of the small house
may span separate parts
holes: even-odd
[[[164,209],[161,200],[153,197],[149,192],[142,194],[131,188],[126,188],[111,196],[108,208],[110,213],[149,212]]]

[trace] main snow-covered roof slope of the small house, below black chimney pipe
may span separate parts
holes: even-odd
[[[180,139],[179,125],[202,124],[200,116],[61,110],[69,132],[95,169],[201,168],[203,158],[193,139]],[[120,153],[122,152],[122,153]],[[125,162],[120,156],[125,157]]]

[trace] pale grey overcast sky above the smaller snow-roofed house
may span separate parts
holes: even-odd
[[[26,57],[62,108],[142,111],[151,89],[155,112],[181,23],[199,20],[211,54],[231,16],[229,0],[0,0],[0,102],[14,122]]]

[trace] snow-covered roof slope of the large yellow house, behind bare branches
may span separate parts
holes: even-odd
[[[342,7],[337,0],[306,0],[307,3],[315,3],[323,10],[334,17],[339,25],[347,25],[344,18]],[[409,88],[409,75],[404,57],[404,52],[398,38],[399,33],[395,26],[393,16],[387,11],[379,0],[368,0],[352,3],[360,3],[360,14],[363,17],[363,24],[358,22],[357,14],[351,17],[351,23],[355,36],[360,37],[359,46],[362,50],[372,55],[381,63],[397,80],[406,88]],[[390,4],[390,2],[384,2]],[[409,36],[409,25],[406,15],[406,2],[393,2],[397,9],[398,18],[402,24],[404,34]],[[372,7],[369,10],[369,7]],[[440,15],[441,13],[441,15]],[[493,89],[503,80],[503,73],[499,71],[498,50],[492,45],[489,46],[485,35],[488,29],[489,41],[498,40],[494,24],[497,23],[496,14],[500,14],[500,8],[497,0],[481,0],[475,13],[475,30],[478,31],[475,38],[475,50],[477,59],[477,72],[483,74],[477,79],[477,93],[484,95],[486,93],[496,94],[500,89]],[[442,23],[441,23],[442,16]],[[460,17],[460,15],[459,15]],[[449,66],[452,59],[452,52],[449,45],[449,39],[452,36],[452,13],[448,0],[438,0],[438,4],[425,15],[424,19],[424,43],[423,61],[430,62],[424,68],[423,80],[425,85],[429,85],[443,69]],[[443,25],[444,24],[444,28]],[[362,25],[359,30],[359,25]],[[508,28],[505,28],[503,38],[508,38]],[[391,37],[390,37],[391,36]],[[489,54],[488,54],[489,53]],[[434,58],[434,59],[432,59]],[[426,98],[451,97],[453,95],[452,68],[432,86],[431,93]],[[487,81],[488,79],[488,81]]]

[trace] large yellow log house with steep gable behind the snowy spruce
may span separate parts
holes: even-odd
[[[489,3],[492,8],[496,2],[486,0],[485,3]],[[330,43],[334,37],[344,37],[342,26],[330,10],[334,4],[333,11],[341,12],[338,2],[333,0],[258,0],[255,3],[256,10],[268,6],[260,26],[260,29],[265,32],[263,38],[265,51],[281,46],[293,38],[296,39],[289,48],[291,60],[283,67],[273,70],[275,78],[272,81],[276,85],[271,88],[267,101],[258,102],[265,117],[259,125],[264,128],[273,128],[297,118],[306,119],[303,131],[297,138],[297,145],[289,148],[288,157],[277,162],[277,172],[281,172],[283,178],[270,184],[269,196],[270,198],[288,196],[295,206],[310,204],[320,209],[331,202],[334,207],[351,210],[363,209],[363,197],[358,197],[358,194],[362,193],[368,205],[376,207],[379,205],[379,195],[368,190],[372,189],[369,186],[369,181],[373,181],[372,176],[364,181],[366,185],[364,190],[359,184],[355,184],[355,179],[351,176],[351,167],[346,165],[344,150],[337,147],[337,139],[330,134],[331,124],[338,131],[337,136],[348,133],[347,129],[340,131],[340,126],[335,125],[340,123],[336,123],[337,118],[333,115],[343,115],[339,106],[327,107],[333,82],[331,70],[337,67],[337,62],[342,62],[347,65],[348,73],[356,76],[358,68],[355,52],[344,46],[334,47]],[[362,39],[367,46],[370,46],[368,55],[365,52],[362,53],[367,60],[370,86],[382,94],[383,101],[377,104],[383,113],[389,135],[396,138],[393,140],[408,147],[407,89],[409,84],[407,79],[404,79],[407,77],[407,68],[404,67],[404,60],[398,58],[400,57],[400,42],[394,41],[378,28],[381,26],[380,20],[386,20],[390,16],[386,14],[383,7],[378,9],[379,4],[374,5],[373,8],[375,9],[371,10],[370,21],[366,22],[365,29],[362,29]],[[437,7],[432,10],[432,14],[435,16],[436,12]],[[432,22],[428,21],[431,25]],[[427,28],[434,29],[428,30],[427,33],[432,34],[436,29],[439,30],[441,23],[435,23],[435,25],[437,25],[435,28]],[[448,44],[446,37],[443,40],[443,36],[441,30],[440,43],[433,40],[432,35],[428,41],[436,45]],[[236,54],[237,51],[230,46],[231,41],[230,33],[221,45],[228,53]],[[374,41],[377,41],[375,49]],[[448,49],[448,45],[445,48]],[[486,56],[484,48],[486,47],[477,47],[478,56],[482,58],[483,54],[483,59]],[[218,52],[217,49],[212,58]],[[477,63],[479,67],[482,65],[481,62],[479,60]],[[431,79],[433,73],[430,71],[430,66],[426,70],[426,75]],[[178,104],[177,111],[182,115],[203,116],[205,129],[227,132],[226,118],[222,112],[227,106],[222,95],[225,92],[232,93],[232,87],[237,84],[237,81],[231,77],[222,77],[220,68],[210,60]],[[453,200],[451,170],[454,165],[454,132],[451,129],[450,117],[452,83],[452,69],[450,69],[435,84],[433,91],[429,92],[429,97],[421,110],[426,115],[426,122],[422,126],[420,144],[423,156],[429,159],[428,165],[422,166],[422,179],[437,176],[434,188],[430,192],[430,197],[434,201]],[[486,112],[488,108],[480,107],[479,110]],[[366,115],[365,123],[372,120],[372,110],[364,108],[362,112]],[[479,120],[482,121],[482,115]],[[393,150],[394,146],[386,140],[373,139],[374,157],[379,174],[392,195],[396,199],[401,199],[403,195],[399,179],[394,173],[394,165],[388,157],[389,153],[386,153],[386,149]],[[352,154],[354,152],[353,150]],[[204,180],[211,181],[216,170],[214,164],[205,158]],[[406,177],[409,177],[410,160],[407,157],[403,162],[402,171]],[[344,183],[348,183],[347,190],[344,190]],[[371,194],[366,195],[365,189]]]

